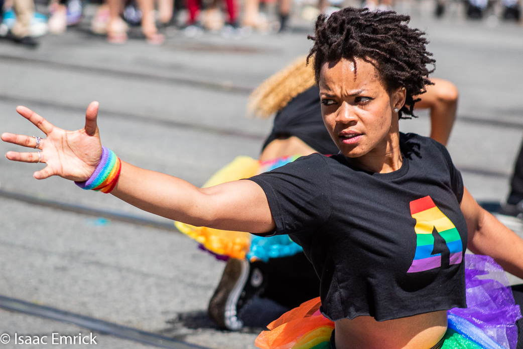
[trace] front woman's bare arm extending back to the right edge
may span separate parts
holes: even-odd
[[[523,239],[481,208],[466,188],[460,207],[469,231],[468,248],[491,256],[503,269],[523,279]]]

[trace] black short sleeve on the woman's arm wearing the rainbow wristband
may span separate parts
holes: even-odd
[[[248,178],[258,184],[269,202],[276,230],[263,236],[312,232],[331,212],[326,157],[311,154]]]

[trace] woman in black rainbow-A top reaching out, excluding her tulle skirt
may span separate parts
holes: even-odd
[[[332,157],[311,154],[200,189],[101,147],[97,102],[85,128],[72,132],[18,107],[47,138],[5,133],[4,141],[42,149],[6,157],[46,162],[35,178],[76,180],[169,219],[289,234],[321,277],[319,311],[334,321],[335,347],[439,347],[447,310],[466,307],[465,248],[521,277],[523,240],[477,205],[444,146],[400,134],[399,118],[412,115],[434,63],[408,19],[346,8],[317,20],[311,55],[324,122],[340,149]]]

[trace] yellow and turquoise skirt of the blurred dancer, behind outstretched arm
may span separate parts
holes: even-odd
[[[278,158],[270,161],[260,162],[249,157],[237,157],[215,173],[203,185],[203,188],[218,184],[232,182],[233,180],[249,178],[254,175],[274,170],[289,162],[298,159],[299,156]],[[200,243],[200,248],[214,254],[218,259],[248,258],[250,261],[269,258],[288,257],[303,251],[294,243],[289,236],[259,237],[245,232],[224,231],[204,226],[194,226],[181,222],[174,223],[178,230],[187,234]]]

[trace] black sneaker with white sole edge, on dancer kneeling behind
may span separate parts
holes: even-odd
[[[260,295],[267,283],[263,268],[246,259],[229,258],[222,279],[209,301],[209,316],[218,326],[237,331],[243,327],[241,309]]]

